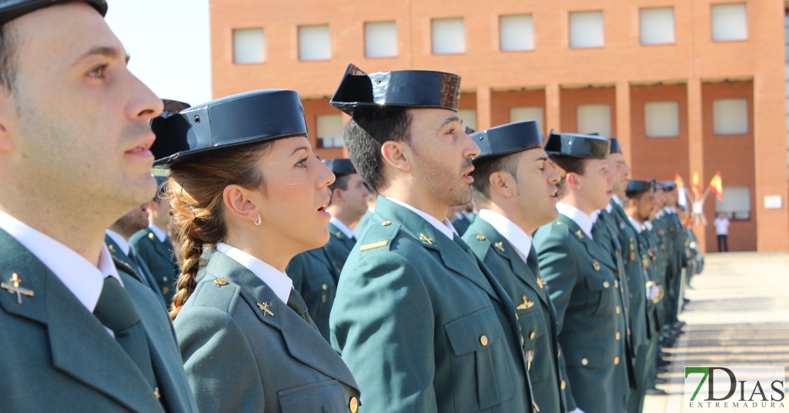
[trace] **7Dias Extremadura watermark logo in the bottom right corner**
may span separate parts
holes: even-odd
[[[721,408],[780,409],[787,401],[784,367],[686,366],[686,406],[698,410]]]

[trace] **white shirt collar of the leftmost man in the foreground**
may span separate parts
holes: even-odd
[[[0,210],[0,228],[36,255],[36,258],[41,260],[90,312],[93,312],[96,303],[99,302],[104,277],[114,277],[123,285],[107,245],[102,244],[99,266],[96,267],[71,248],[32,229],[2,210]],[[24,276],[21,278],[24,281]]]

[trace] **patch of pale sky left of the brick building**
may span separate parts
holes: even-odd
[[[208,0],[108,0],[129,69],[160,98],[211,100]]]

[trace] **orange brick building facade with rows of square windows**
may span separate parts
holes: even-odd
[[[730,251],[789,251],[781,0],[211,0],[215,97],[301,93],[310,139],[342,156],[329,106],[348,63],[458,73],[466,125],[537,120],[616,136],[635,179],[701,189],[720,171]],[[695,227],[715,250],[712,225]]]

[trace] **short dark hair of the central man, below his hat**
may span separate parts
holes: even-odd
[[[411,143],[411,115],[406,110],[375,110],[353,113],[342,134],[353,167],[368,188],[379,192],[383,177],[383,143]]]

